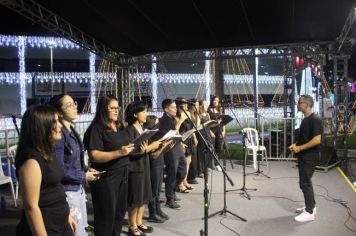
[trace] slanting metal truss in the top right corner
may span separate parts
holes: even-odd
[[[338,54],[351,54],[356,43],[356,1],[354,1],[354,4],[351,7],[344,27],[342,28],[339,37],[336,39],[336,42],[338,44]]]

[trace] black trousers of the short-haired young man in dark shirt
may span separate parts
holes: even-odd
[[[183,181],[186,174],[185,156],[172,155],[169,153],[165,155],[164,162],[166,165],[166,199],[167,202],[174,199],[175,190],[179,184]]]

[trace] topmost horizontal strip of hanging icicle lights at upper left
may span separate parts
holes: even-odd
[[[38,37],[38,36],[12,36],[0,35],[0,46],[17,47],[20,38],[24,38],[24,46],[32,48],[65,48],[81,49],[81,47],[67,39],[59,37]]]

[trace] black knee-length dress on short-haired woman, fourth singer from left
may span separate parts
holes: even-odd
[[[133,125],[126,128],[131,141],[140,136]],[[139,207],[152,198],[150,159],[148,154],[130,155],[128,206]]]

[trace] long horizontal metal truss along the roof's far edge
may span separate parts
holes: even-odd
[[[155,53],[156,62],[180,62],[180,61],[205,61],[247,57],[279,57],[279,56],[310,56],[319,61],[319,57],[332,53],[334,42],[304,42],[293,44],[201,49],[193,51],[174,51]],[[133,57],[132,64],[145,64],[152,62],[152,54]]]

